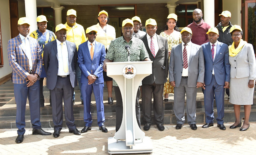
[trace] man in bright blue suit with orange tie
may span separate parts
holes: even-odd
[[[81,90],[82,97],[85,101],[84,104],[84,122],[85,127],[81,133],[85,133],[91,130],[91,93],[94,93],[97,118],[99,129],[102,132],[108,132],[106,129],[104,105],[103,105],[103,62],[106,56],[105,47],[103,44],[95,41],[97,36],[97,30],[94,27],[86,29],[86,37],[88,40],[78,47],[78,65],[81,69]]]

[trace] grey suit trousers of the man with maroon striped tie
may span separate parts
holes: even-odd
[[[173,110],[177,124],[185,123],[185,93],[187,97],[187,121],[188,124],[196,124],[196,97],[197,88],[187,86],[188,78],[181,78],[179,87],[174,87]]]

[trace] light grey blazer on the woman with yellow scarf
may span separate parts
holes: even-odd
[[[256,80],[256,61],[252,44],[245,44],[236,56],[229,56],[230,78]]]

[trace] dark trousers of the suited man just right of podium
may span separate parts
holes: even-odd
[[[145,124],[152,124],[151,103],[154,97],[153,110],[156,124],[163,124],[163,86],[164,84],[142,85],[142,115]]]

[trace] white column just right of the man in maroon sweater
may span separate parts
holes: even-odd
[[[212,28],[215,27],[214,21],[214,1],[213,0],[204,0],[203,1],[203,19],[204,22],[211,25]]]

